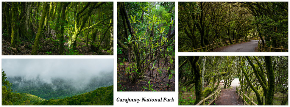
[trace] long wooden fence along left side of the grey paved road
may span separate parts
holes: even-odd
[[[207,45],[205,47],[201,47],[200,46],[200,48],[197,48],[197,49],[191,48],[191,50],[188,50],[188,51],[184,51],[184,49],[180,49],[180,52],[202,52],[203,50],[204,50],[204,52],[208,52],[210,50],[213,50],[213,49],[216,49],[216,48],[220,48],[220,47],[223,47],[223,46],[226,46],[226,45],[232,45],[232,44],[235,44],[235,43],[240,43],[240,42],[243,42],[244,40],[245,39],[238,39],[238,40],[231,40],[231,41],[213,43],[213,44]]]

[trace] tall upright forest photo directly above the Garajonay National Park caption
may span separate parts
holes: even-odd
[[[118,91],[174,91],[174,5],[117,3]]]

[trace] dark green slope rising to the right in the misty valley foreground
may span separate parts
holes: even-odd
[[[34,105],[113,105],[113,85],[64,99],[45,100]]]

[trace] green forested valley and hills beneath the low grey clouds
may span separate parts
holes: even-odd
[[[111,74],[91,78],[85,86],[62,78],[52,78],[52,83],[46,83],[39,77],[4,75],[2,70],[2,105],[113,105]]]

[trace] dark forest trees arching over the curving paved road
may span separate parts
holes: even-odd
[[[239,38],[288,49],[288,2],[178,2],[178,31],[179,51]]]

